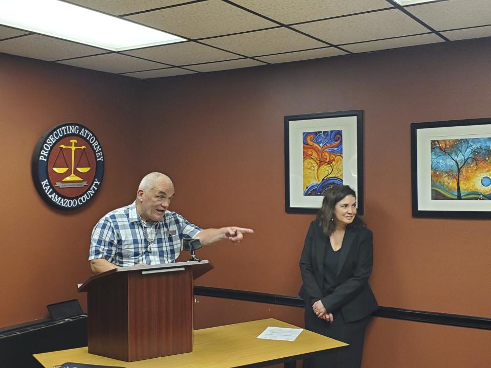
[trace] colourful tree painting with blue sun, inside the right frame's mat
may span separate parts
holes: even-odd
[[[431,199],[491,200],[491,137],[430,144]]]

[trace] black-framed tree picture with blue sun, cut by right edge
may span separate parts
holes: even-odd
[[[415,217],[491,218],[491,118],[411,124]]]

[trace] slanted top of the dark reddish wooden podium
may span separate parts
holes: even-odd
[[[197,279],[201,275],[205,274],[209,270],[213,268],[213,265],[209,260],[201,260],[201,261],[187,261],[187,262],[174,262],[174,263],[165,263],[159,265],[143,265],[143,266],[133,266],[133,267],[118,267],[115,269],[111,269],[106,272],[98,273],[88,278],[80,287],[78,288],[79,292],[87,291],[87,286],[94,282],[94,280],[106,277],[109,274],[113,273],[121,273],[121,272],[144,272],[150,273],[158,270],[171,270],[173,268],[183,269],[185,267],[193,268],[193,279]]]

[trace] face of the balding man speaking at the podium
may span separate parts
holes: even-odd
[[[150,189],[139,189],[137,200],[140,202],[139,212],[142,219],[147,222],[162,221],[173,195],[174,186],[165,178],[155,181]]]

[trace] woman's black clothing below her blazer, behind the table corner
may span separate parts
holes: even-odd
[[[318,318],[312,308],[305,308],[305,329],[343,341],[348,347],[336,348],[322,355],[305,359],[304,368],[360,368],[365,330],[370,316],[345,323],[341,311],[335,311],[333,323]]]

